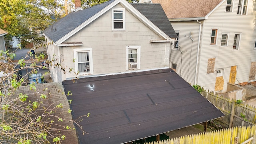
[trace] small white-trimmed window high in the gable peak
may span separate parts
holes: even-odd
[[[112,8],[112,30],[125,30],[124,8]]]

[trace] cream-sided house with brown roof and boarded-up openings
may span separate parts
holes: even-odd
[[[140,0],[160,3],[178,41],[171,67],[187,82],[215,92],[256,80],[254,0]]]

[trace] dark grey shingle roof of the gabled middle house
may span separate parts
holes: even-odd
[[[74,30],[76,27],[80,26],[86,20],[100,12],[100,10],[104,9],[112,2],[114,2],[114,0],[98,4],[91,8],[79,10],[77,12],[71,12],[64,18],[58,20],[52,26],[46,28],[46,30],[44,30],[44,34],[46,34],[48,38],[56,42],[72,30]],[[134,6],[137,10],[144,14],[152,23],[158,26],[158,28],[160,28],[168,36],[170,36],[171,38],[177,38],[170,22],[167,22],[168,18],[166,17],[166,14],[164,13],[160,5],[132,4],[132,6]]]

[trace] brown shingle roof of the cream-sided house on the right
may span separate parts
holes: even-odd
[[[220,2],[222,0],[152,0],[162,5],[169,19],[205,17]]]

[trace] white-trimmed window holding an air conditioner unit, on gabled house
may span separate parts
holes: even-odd
[[[126,47],[126,70],[140,69],[140,46]]]

